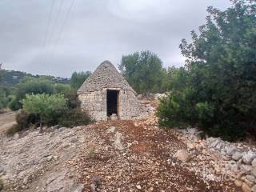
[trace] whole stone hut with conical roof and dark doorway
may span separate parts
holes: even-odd
[[[109,61],[104,61],[78,89],[83,111],[94,120],[106,120],[112,114],[130,119],[140,114],[136,92]]]

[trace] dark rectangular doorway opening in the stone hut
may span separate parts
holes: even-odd
[[[118,90],[106,90],[107,116],[118,115]]]

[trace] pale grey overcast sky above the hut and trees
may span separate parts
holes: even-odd
[[[182,66],[178,45],[204,24],[207,6],[223,10],[230,1],[0,0],[0,63],[70,77],[103,60],[118,66],[122,55],[150,50],[164,66]]]

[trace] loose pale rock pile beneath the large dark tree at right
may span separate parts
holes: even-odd
[[[227,175],[244,192],[256,192],[256,147],[225,142],[221,138],[201,139],[196,128],[170,130],[192,154],[211,158],[216,174]]]

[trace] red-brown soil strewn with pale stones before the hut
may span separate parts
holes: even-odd
[[[116,128],[114,133],[107,133],[110,126]],[[91,129],[94,138],[90,153],[82,150],[81,158],[74,162],[82,175],[78,182],[85,184],[85,191],[91,191],[94,176],[102,178],[100,191],[240,191],[232,181],[207,182],[182,163],[170,163],[171,154],[186,146],[156,126],[116,121],[100,122]],[[124,137],[124,150],[113,146],[117,131]]]

